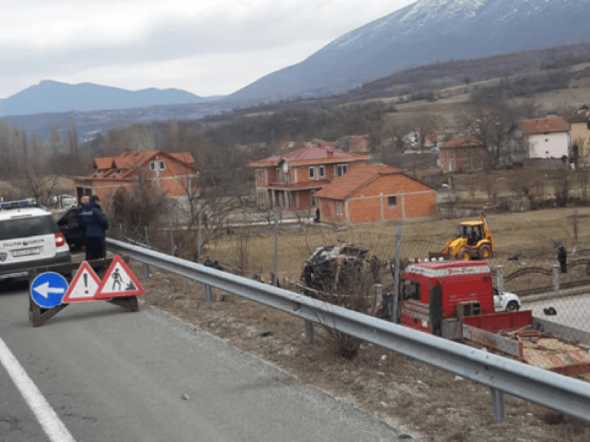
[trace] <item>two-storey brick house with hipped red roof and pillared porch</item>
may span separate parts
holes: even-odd
[[[368,161],[369,154],[341,152],[311,143],[283,155],[250,163],[255,170],[259,207],[306,210],[317,206],[314,194],[333,179]]]

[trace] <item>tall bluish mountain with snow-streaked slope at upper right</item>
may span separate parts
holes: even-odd
[[[589,17],[590,0],[419,0],[230,97],[332,95],[407,67],[589,42]]]

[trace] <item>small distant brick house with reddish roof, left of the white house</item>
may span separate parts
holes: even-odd
[[[439,158],[443,172],[487,170],[487,150],[470,136],[460,136],[441,142]]]

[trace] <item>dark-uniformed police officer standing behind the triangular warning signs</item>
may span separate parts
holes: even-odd
[[[101,206],[96,204],[100,199],[96,195],[82,199],[76,219],[78,225],[84,229],[84,245],[86,246],[86,261],[100,259],[106,256],[105,235],[108,229],[108,218]]]

